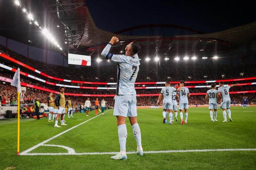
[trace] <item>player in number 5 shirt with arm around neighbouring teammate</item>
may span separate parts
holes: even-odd
[[[171,97],[172,97],[173,92],[180,91],[180,89],[182,88],[182,84],[180,84],[180,87],[177,89],[175,87],[178,87],[178,85],[175,85],[174,87],[170,87],[170,82],[168,82],[168,81],[165,82],[165,87],[162,88],[161,93],[156,102],[156,104],[158,105],[159,102],[161,101],[161,99],[163,98],[163,117],[164,117],[163,123],[168,123],[168,121],[166,121],[166,119],[167,119],[168,113],[170,113],[169,114],[170,124],[172,124],[171,121],[173,119],[173,116],[172,116],[173,115],[172,114],[173,101],[172,101]]]

